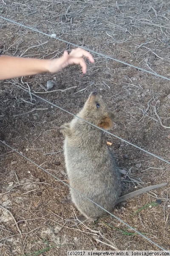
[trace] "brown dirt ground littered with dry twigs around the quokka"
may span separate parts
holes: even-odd
[[[169,0],[0,2],[3,17],[170,78]],[[54,58],[73,47],[0,18],[0,48],[6,55]],[[87,62],[86,75],[72,66],[57,74],[0,81],[0,140],[68,183],[57,129],[72,116],[34,96],[31,101],[17,85],[29,86],[74,114],[95,88],[116,113],[111,133],[170,161],[170,82],[99,55],[94,59],[94,64]],[[54,82],[50,91],[55,91],[47,93],[49,80]],[[110,135],[108,141],[120,169],[127,172],[122,175],[124,193],[170,183],[168,164]],[[2,143],[0,159],[0,256],[113,250],[102,236],[119,250],[159,249],[110,216],[93,227],[63,226],[66,218],[79,214],[74,205],[61,203],[68,187]],[[113,214],[168,250],[169,195],[168,184],[128,200]],[[20,221],[22,234],[6,209]]]

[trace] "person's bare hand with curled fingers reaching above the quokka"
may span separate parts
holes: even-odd
[[[89,52],[84,49],[77,48],[73,49],[70,54],[68,54],[67,51],[64,51],[62,57],[51,60],[48,70],[50,73],[55,73],[69,65],[79,64],[82,67],[82,72],[85,74],[87,65],[83,57],[88,58],[91,63],[94,63],[94,58]]]

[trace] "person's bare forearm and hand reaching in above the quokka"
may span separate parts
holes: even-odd
[[[80,64],[82,72],[86,73],[87,65],[83,57],[88,58],[92,63],[94,62],[92,55],[81,48],[73,49],[70,54],[65,51],[62,57],[52,60],[1,55],[0,80],[35,75],[38,73],[56,73],[62,68],[73,64]]]

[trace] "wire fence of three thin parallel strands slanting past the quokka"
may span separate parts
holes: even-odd
[[[78,46],[77,44],[73,44],[73,43],[71,43],[71,42],[62,40],[61,38],[57,38],[57,37],[54,37],[54,36],[52,36],[52,35],[48,35],[48,34],[46,34],[46,33],[44,33],[44,32],[41,32],[41,31],[39,31],[39,30],[37,30],[37,29],[28,27],[28,26],[26,26],[26,25],[23,25],[23,24],[21,24],[21,23],[18,23],[18,22],[16,22],[16,21],[14,21],[14,20],[7,19],[7,18],[5,18],[5,17],[3,17],[3,16],[0,16],[0,18],[2,18],[3,20],[6,20],[6,21],[8,21],[8,22],[14,23],[14,24],[16,24],[16,25],[22,26],[22,27],[24,27],[24,28],[26,28],[26,29],[30,29],[30,30],[32,30],[32,31],[34,31],[34,32],[41,33],[42,35],[45,35],[45,36],[48,36],[48,37],[57,39],[57,40],[59,40],[59,41],[65,42],[65,43],[67,43],[67,44],[73,45],[74,47],[81,47],[82,49],[85,49],[85,50],[87,50],[88,52],[92,52],[92,53],[94,53],[94,54],[96,54],[96,55],[102,56],[102,57],[104,57],[104,58],[111,59],[111,60],[113,60],[113,61],[117,61],[117,62],[122,63],[122,64],[126,64],[127,66],[136,68],[136,69],[138,69],[138,70],[144,71],[144,72],[149,73],[149,74],[151,74],[151,75],[154,75],[154,76],[157,76],[157,77],[159,77],[159,78],[166,79],[166,80],[170,81],[170,79],[167,78],[167,77],[165,77],[165,76],[161,76],[161,75],[156,74],[156,73],[153,73],[153,72],[151,72],[151,71],[149,71],[149,70],[145,70],[145,69],[142,69],[142,68],[140,68],[140,67],[133,66],[133,65],[128,64],[128,63],[126,63],[126,62],[124,62],[124,61],[120,61],[120,60],[118,60],[118,59],[112,58],[111,56],[102,54],[101,52],[95,52],[95,51],[93,51],[93,50],[91,50],[91,49],[88,49],[88,48],[86,48],[86,47]],[[32,92],[26,90],[25,88],[20,87],[20,86],[17,85],[17,84],[15,84],[15,85],[16,85],[17,87],[19,87],[20,89],[22,89],[22,90],[28,92],[29,94],[31,93],[31,95],[34,95],[34,96],[37,97],[38,99],[41,99],[42,101],[44,101],[44,102],[46,102],[46,103],[48,103],[48,104],[50,104],[50,105],[53,105],[54,107],[59,108],[60,110],[65,111],[66,113],[71,114],[72,116],[75,116],[75,117],[77,117],[77,118],[79,118],[79,119],[82,119],[82,118],[80,118],[80,117],[74,115],[73,113],[71,113],[71,112],[69,112],[69,111],[67,111],[67,110],[65,110],[65,109],[63,109],[63,108],[61,108],[61,107],[55,105],[54,103],[49,102],[48,100],[43,99],[43,98],[41,98],[40,96],[37,96],[36,94],[34,94],[34,93],[32,93]],[[83,120],[83,119],[82,119],[82,120]],[[87,122],[88,124],[90,124],[90,125],[96,127],[96,128],[99,128],[98,126],[96,126],[96,125],[94,125],[94,124],[91,124],[90,122],[88,122],[88,121],[86,121],[86,120],[84,120],[84,121]],[[124,139],[122,139],[122,138],[116,136],[115,134],[112,134],[112,133],[110,133],[110,132],[108,132],[108,131],[105,131],[105,130],[102,129],[102,128],[99,128],[99,129],[102,130],[102,131],[104,131],[104,132],[106,132],[106,133],[108,133],[108,134],[110,134],[110,135],[113,136],[113,137],[116,137],[116,138],[119,139],[119,140],[124,141],[125,143],[128,143],[129,145],[132,145],[132,146],[138,148],[138,149],[141,150],[141,151],[144,151],[144,152],[147,153],[147,154],[150,154],[150,155],[153,156],[153,157],[156,157],[157,159],[159,159],[159,160],[161,160],[161,161],[164,161],[165,163],[170,164],[169,161],[167,161],[167,160],[165,160],[165,159],[159,157],[159,156],[156,155],[156,154],[153,154],[153,153],[151,153],[151,152],[149,152],[149,151],[146,151],[145,149],[140,148],[140,147],[138,147],[137,145],[134,145],[133,143],[130,143],[130,142],[128,142],[127,140],[124,140]],[[68,186],[69,188],[71,188],[70,185],[68,185],[68,184],[65,183],[64,181],[60,180],[58,177],[56,177],[56,176],[53,175],[52,173],[48,172],[47,170],[45,170],[44,168],[42,168],[41,166],[39,166],[37,163],[34,163],[34,161],[32,161],[32,160],[29,159],[28,157],[24,156],[23,154],[21,154],[21,153],[20,153],[19,151],[17,151],[16,149],[12,148],[12,147],[11,147],[10,145],[8,145],[6,142],[4,142],[4,141],[2,141],[2,140],[0,140],[0,142],[3,143],[4,145],[6,145],[8,148],[11,148],[12,151],[15,151],[17,154],[21,155],[22,157],[24,157],[24,158],[25,158],[26,160],[28,160],[29,162],[33,163],[33,164],[34,164],[35,166],[37,166],[38,168],[42,169],[44,172],[48,173],[49,175],[51,175],[51,176],[54,177],[55,179],[59,180],[60,182],[62,182],[63,184],[65,184],[66,186]],[[74,188],[72,188],[72,189],[74,189]],[[74,189],[74,190],[77,191],[76,189]],[[77,191],[77,192],[79,192],[79,191]],[[81,195],[83,195],[81,192],[79,192],[79,193],[80,193]],[[92,203],[96,204],[96,203],[95,203],[94,201],[92,201],[90,198],[86,197],[85,195],[83,195],[83,196],[84,196],[85,198],[87,198],[89,201],[91,201]],[[96,206],[98,206],[98,207],[100,207],[101,209],[105,210],[105,212],[109,213],[112,217],[116,218],[118,221],[122,222],[124,225],[126,225],[127,227],[129,227],[131,230],[133,230],[133,231],[135,231],[136,233],[138,233],[138,234],[139,234],[140,236],[142,236],[144,239],[147,239],[147,241],[150,241],[152,244],[156,245],[156,246],[159,247],[161,250],[167,252],[167,250],[165,250],[164,248],[162,248],[161,246],[159,246],[159,244],[156,244],[156,243],[153,242],[151,239],[149,239],[149,238],[147,238],[146,236],[144,236],[142,233],[140,233],[138,230],[134,229],[133,227],[131,227],[130,225],[128,225],[127,223],[125,223],[124,221],[122,221],[122,220],[121,220],[120,218],[118,218],[116,215],[113,215],[111,212],[108,212],[106,209],[104,209],[103,207],[101,207],[99,204],[96,204]]]

